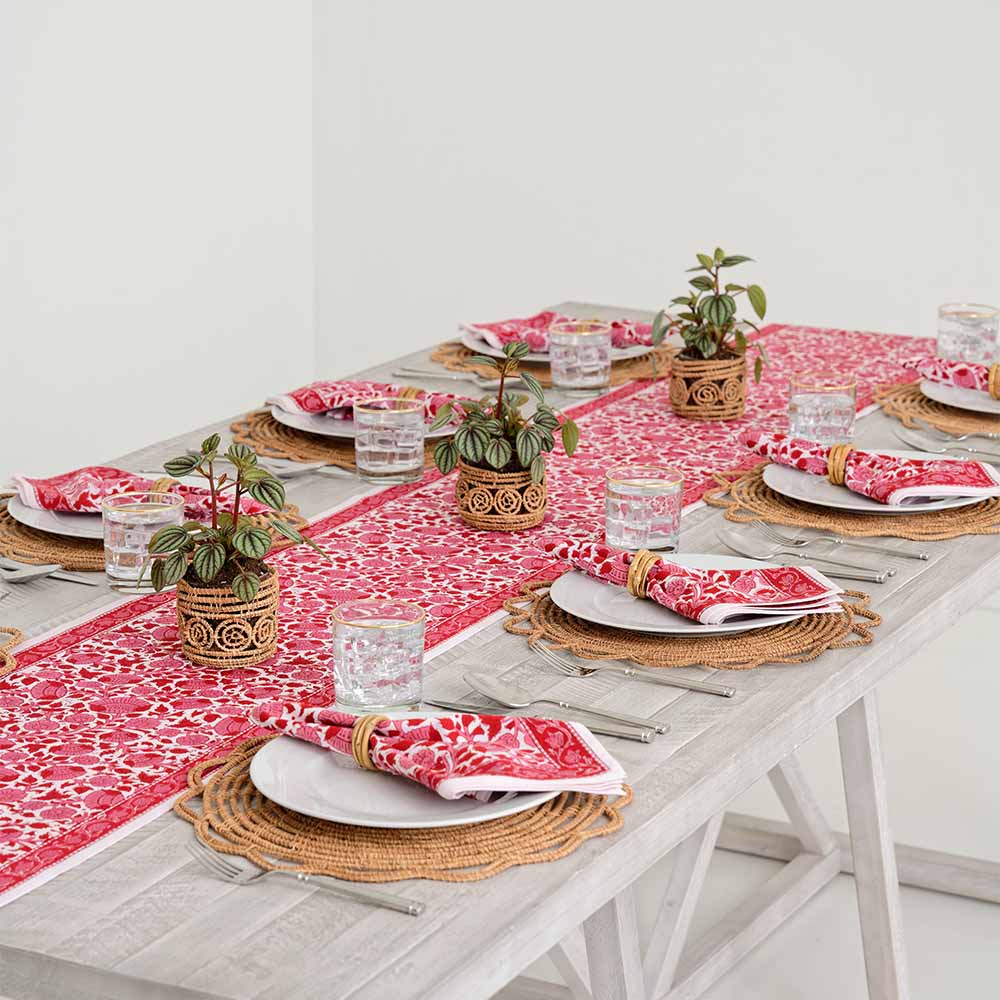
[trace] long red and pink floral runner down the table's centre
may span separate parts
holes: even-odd
[[[911,381],[902,362],[930,349],[925,340],[813,327],[772,326],[764,336],[773,366],[749,388],[744,420],[676,418],[665,381],[633,382],[574,408],[580,447],[572,459],[551,456],[550,513],[531,532],[466,527],[453,477],[433,471],[319,518],[309,533],[333,563],[305,547],[270,559],[281,579],[280,636],[275,657],[258,667],[187,663],[173,595],[159,594],[19,651],[18,669],[0,681],[0,902],[180,791],[191,766],[256,731],[255,705],[328,704],[334,605],[362,596],[415,601],[427,612],[428,648],[436,646],[498,610],[522,583],[558,571],[540,553],[541,538],[600,527],[609,464],[669,461],[693,502],[712,472],[759,461],[736,436],[751,424],[784,426],[792,371],[853,372],[865,407],[876,385]]]

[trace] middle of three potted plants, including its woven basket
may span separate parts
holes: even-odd
[[[519,531],[540,524],[548,502],[545,455],[555,447],[555,432],[567,455],[580,440],[577,425],[545,402],[538,379],[528,372],[518,374],[518,362],[529,350],[527,344],[513,342],[504,345],[502,358],[473,358],[496,369],[496,396],[449,403],[431,425],[436,429],[456,415],[461,418],[454,435],[435,447],[434,463],[445,475],[458,466],[458,513],[474,528]],[[530,395],[506,390],[507,379],[515,375]],[[535,410],[526,416],[522,408],[531,397]]]

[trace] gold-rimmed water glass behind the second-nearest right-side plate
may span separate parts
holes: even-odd
[[[666,465],[608,469],[604,539],[616,549],[676,552],[681,531],[684,477]]]

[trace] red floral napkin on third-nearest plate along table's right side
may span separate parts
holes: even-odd
[[[946,497],[1000,496],[1000,473],[983,462],[893,458],[752,429],[740,434],[740,442],[778,465],[826,476],[838,486],[893,506]]]

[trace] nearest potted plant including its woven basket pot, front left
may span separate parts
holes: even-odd
[[[213,667],[249,667],[271,656],[278,639],[278,574],[264,562],[272,531],[292,542],[322,551],[292,525],[268,514],[240,513],[240,499],[250,496],[280,511],[285,488],[257,465],[252,448],[233,444],[225,458],[235,475],[215,474],[219,435],[201,443],[197,455],[181,455],[164,464],[171,476],[198,473],[208,480],[211,523],[187,521],[161,528],[150,539],[150,578],[155,590],[177,585],[177,628],[181,649],[192,663]],[[223,502],[231,503],[223,509]]]

